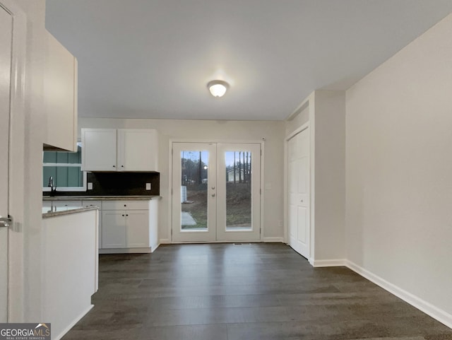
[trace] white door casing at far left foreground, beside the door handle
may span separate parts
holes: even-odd
[[[11,88],[9,107],[9,175],[8,213],[13,216],[13,225],[8,230],[8,321],[23,320],[25,311],[24,269],[25,238],[25,98],[28,89],[26,70],[27,17],[14,0],[0,0],[0,6],[13,16],[13,43],[11,52]],[[11,189],[13,187],[13,189]],[[29,222],[29,221],[27,221]],[[39,223],[40,221],[35,221]]]

